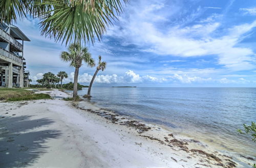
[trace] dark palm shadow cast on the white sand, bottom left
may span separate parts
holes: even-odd
[[[31,166],[47,152],[47,140],[61,135],[59,130],[47,129],[53,120],[30,117],[0,119],[0,167]]]

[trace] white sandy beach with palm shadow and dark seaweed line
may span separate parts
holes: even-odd
[[[58,90],[40,93],[55,98],[0,103],[8,113],[0,114],[5,117],[0,119],[0,157],[5,158],[0,165],[242,167],[234,158],[213,151],[196,139],[183,139],[161,126],[125,118],[89,102],[60,100],[68,94]],[[28,129],[20,128],[20,124]],[[34,132],[36,136],[26,135]],[[27,158],[22,162],[18,160],[20,155]],[[246,163],[253,161],[247,159]]]

